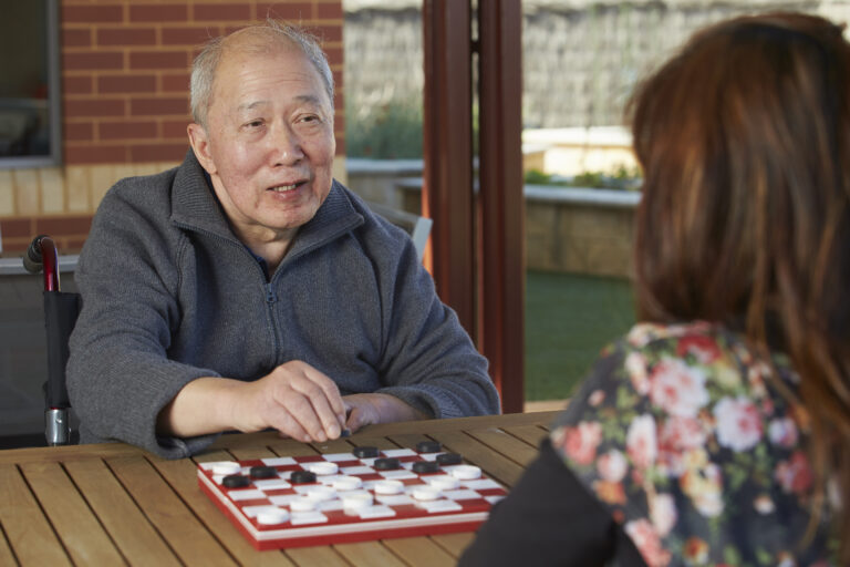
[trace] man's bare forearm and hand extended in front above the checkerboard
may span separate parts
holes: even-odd
[[[333,380],[293,360],[255,382],[193,380],[163,409],[157,431],[193,436],[273,427],[299,441],[323,442],[339,437],[344,424],[345,405]]]

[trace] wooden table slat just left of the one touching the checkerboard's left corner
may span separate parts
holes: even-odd
[[[183,563],[235,565],[144,457],[122,456],[106,463]]]

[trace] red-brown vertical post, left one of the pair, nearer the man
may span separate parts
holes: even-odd
[[[425,0],[423,210],[434,219],[432,275],[476,337],[469,0]]]

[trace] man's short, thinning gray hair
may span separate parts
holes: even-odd
[[[251,47],[240,45],[237,49],[263,52],[268,51],[276,43],[288,43],[300,49],[319,72],[319,76],[322,78],[324,89],[328,92],[328,99],[331,101],[331,109],[333,109],[333,73],[331,73],[328,58],[319,45],[315,35],[302,28],[272,19],[266,20],[266,23],[262,24],[242,28],[235,33],[240,32],[250,33],[256,38],[256,41]],[[209,102],[212,96],[212,82],[216,79],[216,69],[225,51],[230,49],[226,44],[229,37],[222,35],[210,40],[191,64],[191,118],[205,128],[207,127],[207,112],[209,111]]]

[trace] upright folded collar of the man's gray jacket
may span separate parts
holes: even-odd
[[[174,178],[170,219],[185,229],[240,241],[230,230],[225,213],[207,183],[204,168],[191,150],[186,153]],[[363,223],[363,216],[354,208],[348,189],[334,179],[328,198],[315,216],[301,226],[283,261],[334,240]]]

